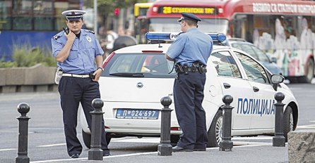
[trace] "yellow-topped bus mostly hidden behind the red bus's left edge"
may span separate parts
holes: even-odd
[[[148,32],[148,23],[146,21],[146,14],[148,8],[152,6],[153,3],[136,3],[133,8],[133,16],[135,18],[134,33],[138,44],[145,44],[145,33]]]

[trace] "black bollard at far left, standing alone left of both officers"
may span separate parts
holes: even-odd
[[[18,119],[18,157],[16,157],[16,163],[28,163],[30,158],[28,157],[28,120],[26,114],[30,111],[30,105],[27,103],[18,104],[18,112],[20,117]]]

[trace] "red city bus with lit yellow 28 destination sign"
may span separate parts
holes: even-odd
[[[313,79],[315,1],[159,0],[147,12],[148,31],[179,32],[183,12],[198,15],[203,32],[246,39],[266,51],[290,81]]]

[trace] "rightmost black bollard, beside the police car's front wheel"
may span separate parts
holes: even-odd
[[[281,92],[275,93],[275,136],[273,136],[274,147],[285,147],[285,136],[283,136],[283,106],[285,95]]]

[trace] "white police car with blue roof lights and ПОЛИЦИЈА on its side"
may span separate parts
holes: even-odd
[[[177,34],[148,33],[152,41],[175,38]],[[273,134],[274,95],[285,94],[283,125],[285,136],[295,130],[299,108],[292,91],[280,74],[271,74],[244,51],[220,45],[222,34],[211,34],[215,45],[208,60],[203,108],[206,110],[208,147],[218,146],[222,132],[222,97],[233,97],[232,136]],[[220,41],[219,41],[220,40]],[[112,137],[160,136],[164,96],[172,98],[175,72],[165,59],[170,44],[139,44],[114,51],[104,62],[100,77],[107,142]],[[174,109],[174,104],[170,105]],[[90,146],[90,130],[81,110],[83,140]],[[172,112],[171,141],[177,143],[182,133]]]

